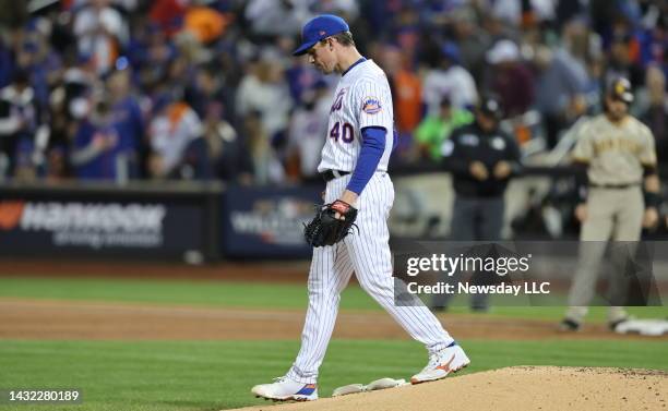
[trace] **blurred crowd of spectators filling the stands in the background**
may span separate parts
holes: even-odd
[[[0,0],[0,178],[317,179],[336,78],[291,50],[336,13],[386,71],[395,164],[439,161],[479,96],[539,114],[553,147],[601,87],[668,160],[668,2],[658,0]],[[524,143],[526,135],[516,137]],[[536,136],[529,136],[536,138]]]

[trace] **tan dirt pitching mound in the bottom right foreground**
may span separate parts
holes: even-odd
[[[324,394],[324,392],[323,392]],[[326,392],[329,395],[329,392]],[[668,410],[668,373],[647,370],[514,366],[271,411]]]

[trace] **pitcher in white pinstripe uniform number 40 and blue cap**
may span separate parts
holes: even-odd
[[[326,181],[325,205],[306,229],[313,245],[309,306],[301,349],[287,374],[252,388],[274,400],[318,399],[318,370],[334,329],[342,290],[355,271],[360,286],[429,351],[414,384],[440,379],[466,365],[464,350],[425,306],[396,306],[387,217],[394,188],[387,176],[393,147],[392,95],[383,71],[355,47],[346,22],[320,15],[302,29],[296,56],[341,81],[330,109],[318,171]]]

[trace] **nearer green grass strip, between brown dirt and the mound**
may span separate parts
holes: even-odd
[[[591,365],[668,370],[665,342],[461,341],[465,372],[509,365]],[[252,385],[283,375],[297,341],[15,341],[0,340],[2,387],[76,387],[83,404],[40,410],[219,410],[263,403]],[[334,340],[320,392],[383,376],[407,378],[426,355],[411,341]],[[25,406],[0,409],[26,410]]]

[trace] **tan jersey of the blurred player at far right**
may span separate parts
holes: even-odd
[[[654,136],[631,116],[612,123],[600,114],[580,129],[573,159],[589,164],[594,184],[640,183],[643,166],[656,166]]]

